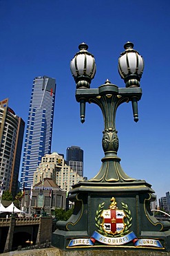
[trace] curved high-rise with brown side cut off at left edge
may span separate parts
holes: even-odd
[[[25,122],[10,107],[8,99],[0,102],[0,181],[2,189],[15,196]]]

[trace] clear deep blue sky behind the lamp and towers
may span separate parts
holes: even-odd
[[[91,88],[108,78],[124,87],[118,57],[127,41],[144,57],[142,99],[135,123],[131,104],[119,107],[116,129],[123,170],[151,183],[158,198],[170,190],[170,1],[0,0],[0,100],[25,122],[32,80],[56,78],[52,152],[65,154],[77,145],[84,150],[84,174],[92,178],[104,156],[103,117],[87,105],[82,125],[70,60],[85,42],[96,59]]]

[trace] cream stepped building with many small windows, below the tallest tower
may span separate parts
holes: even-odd
[[[45,178],[52,179],[59,185],[59,188],[67,192],[72,189],[72,185],[83,180],[82,176],[79,176],[65,163],[63,156],[56,152],[42,157],[39,167],[34,172],[33,185],[43,181]]]

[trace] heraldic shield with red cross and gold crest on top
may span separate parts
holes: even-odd
[[[100,217],[103,218],[101,226],[105,232],[116,235],[125,229],[124,218],[126,214],[123,210],[118,210],[114,197],[112,197],[111,202],[109,209],[103,210],[100,214]]]

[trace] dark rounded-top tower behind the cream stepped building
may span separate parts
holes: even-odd
[[[74,172],[83,176],[83,149],[81,147],[67,147],[66,161]]]

